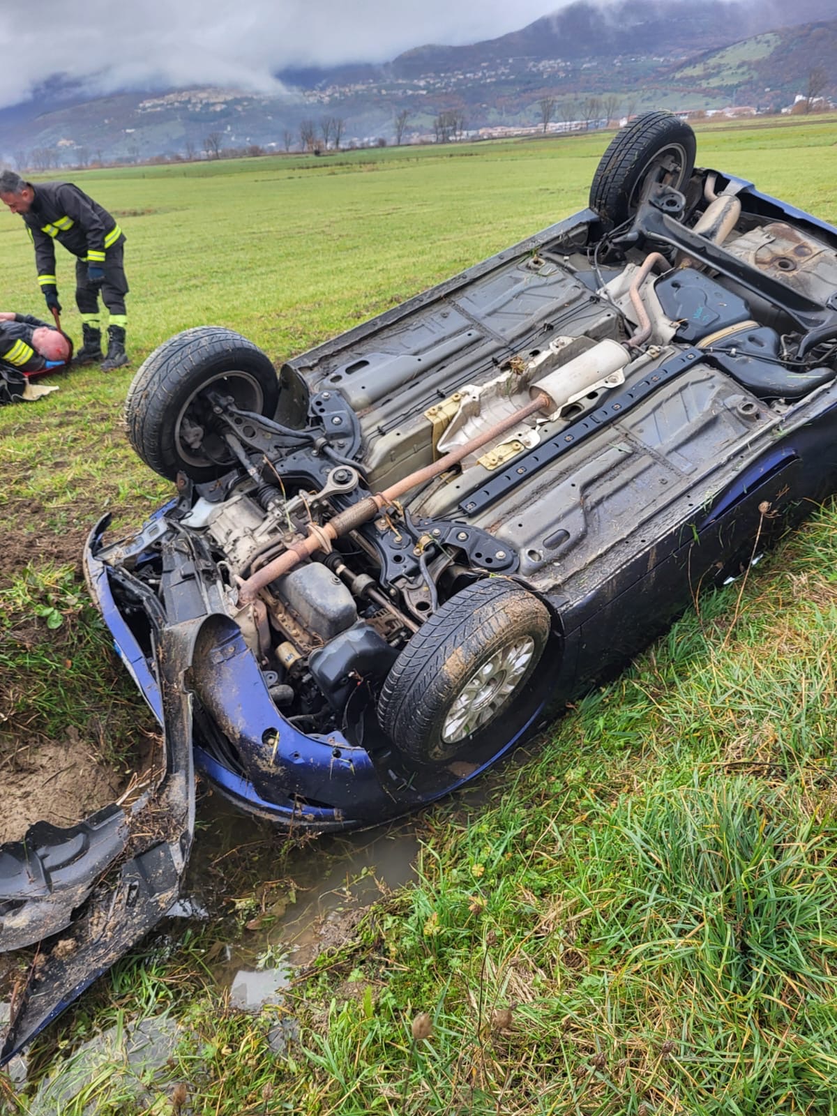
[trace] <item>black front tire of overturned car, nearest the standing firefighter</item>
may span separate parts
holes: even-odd
[[[225,472],[232,458],[220,439],[206,445],[186,444],[184,417],[203,426],[208,404],[202,398],[212,384],[232,395],[244,411],[271,417],[279,402],[279,379],[270,358],[232,329],[201,326],[163,341],[141,365],[128,388],[125,421],[128,439],[145,464],[174,480],[184,472],[208,481]]]

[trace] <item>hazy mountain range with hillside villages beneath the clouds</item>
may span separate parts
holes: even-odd
[[[836,9],[835,0],[797,0],[792,9],[782,0],[577,0],[483,42],[421,46],[385,65],[286,69],[279,96],[202,87],[86,99],[56,81],[0,112],[0,154],[46,170],[296,150],[306,126],[319,135],[329,119],[340,122],[343,145],[392,142],[400,113],[406,141],[432,133],[441,113],[454,113],[460,131],[535,125],[543,98],[566,118],[593,96],[617,113],[731,103],[778,110],[806,93],[815,70],[827,76],[817,92],[837,94]]]

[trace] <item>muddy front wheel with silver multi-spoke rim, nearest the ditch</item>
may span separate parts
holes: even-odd
[[[491,738],[493,751],[500,751],[523,727],[528,714],[521,713],[516,724],[518,699],[549,632],[546,605],[516,583],[489,578],[468,586],[422,625],[396,658],[378,699],[381,727],[398,751],[419,764],[448,763],[460,753],[478,760]],[[513,664],[504,675],[503,656]],[[483,681],[480,672],[491,664],[493,676]],[[482,694],[469,700],[471,685],[482,687],[484,700],[477,700]],[[458,711],[463,708],[469,714],[460,723]],[[500,719],[506,722],[502,733]]]

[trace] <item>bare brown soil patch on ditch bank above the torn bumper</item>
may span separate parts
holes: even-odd
[[[0,742],[0,844],[36,821],[70,826],[117,798],[124,779],[99,762],[97,747],[71,728],[64,742]]]

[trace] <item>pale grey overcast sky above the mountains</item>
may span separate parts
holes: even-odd
[[[49,78],[90,95],[208,84],[280,92],[286,66],[386,61],[514,31],[568,0],[30,0],[0,23],[0,107]]]

